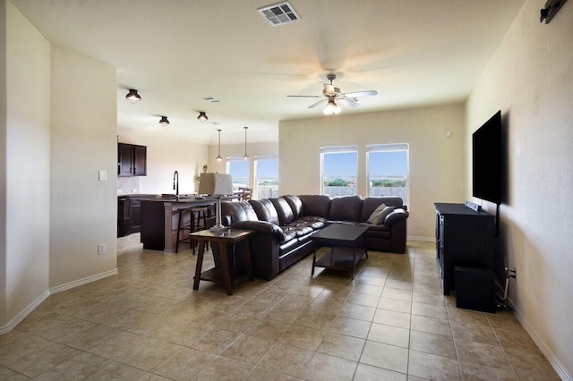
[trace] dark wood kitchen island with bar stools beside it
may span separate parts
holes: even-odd
[[[169,197],[141,200],[141,243],[143,249],[175,253],[179,210],[212,206],[212,197]]]

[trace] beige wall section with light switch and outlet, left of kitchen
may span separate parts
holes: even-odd
[[[115,68],[52,46],[50,288],[116,265]],[[89,94],[89,97],[81,97]],[[98,170],[107,181],[98,181]],[[98,243],[107,253],[98,255]]]

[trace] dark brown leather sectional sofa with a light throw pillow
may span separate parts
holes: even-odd
[[[368,223],[372,212],[382,203],[396,208],[381,224]],[[221,214],[223,224],[257,232],[249,238],[252,267],[255,276],[267,280],[312,253],[312,233],[329,224],[368,224],[367,250],[406,252],[409,213],[398,197],[286,195],[222,202]],[[243,258],[240,246],[235,248],[238,251],[234,267],[244,267],[236,262]]]

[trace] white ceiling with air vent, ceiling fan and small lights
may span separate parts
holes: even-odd
[[[326,117],[286,96],[321,94],[328,72],[343,92],[378,91],[345,114],[462,101],[524,0],[291,0],[301,20],[278,27],[257,11],[273,0],[12,2],[50,42],[117,68],[118,134],[216,144],[220,128],[227,144],[244,126],[278,141],[278,121]]]

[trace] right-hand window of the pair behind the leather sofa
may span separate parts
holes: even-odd
[[[368,194],[398,196],[407,203],[408,145],[374,144],[366,146]]]

